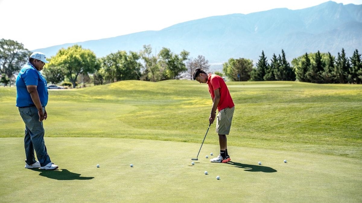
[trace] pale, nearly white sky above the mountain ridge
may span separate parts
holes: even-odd
[[[30,50],[109,38],[176,23],[273,8],[302,9],[326,0],[0,0],[0,38]],[[362,4],[362,0],[336,0]]]

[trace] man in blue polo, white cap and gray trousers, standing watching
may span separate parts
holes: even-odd
[[[25,168],[57,169],[50,161],[44,143],[43,120],[47,118],[45,106],[48,103],[47,83],[40,71],[46,60],[41,52],[30,55],[16,78],[16,106],[25,123]],[[38,161],[35,160],[34,150]]]

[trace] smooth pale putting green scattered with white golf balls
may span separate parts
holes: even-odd
[[[362,161],[348,157],[230,146],[233,163],[219,164],[205,158],[218,155],[218,145],[204,144],[191,165],[199,143],[74,137],[45,142],[59,170],[25,169],[23,139],[0,138],[1,201],[362,201]]]

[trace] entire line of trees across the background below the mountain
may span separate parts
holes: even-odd
[[[7,85],[14,81],[31,52],[23,44],[13,40],[0,40],[0,82]],[[189,57],[188,51],[173,53],[163,47],[158,53],[152,52],[151,45],[144,45],[139,52],[117,51],[97,58],[93,51],[79,45],[59,49],[55,56],[47,58],[43,75],[49,83],[71,84],[93,82],[102,85],[110,82],[136,79],[162,81],[167,79],[190,78],[195,69],[208,71],[209,61],[204,56]],[[262,51],[256,67],[251,59],[229,59],[223,64],[223,73],[232,81],[302,81],[313,83],[362,83],[361,55],[356,49],[347,57],[344,49],[337,57],[331,53],[306,53],[291,61],[281,54],[271,57],[268,62]],[[11,84],[11,83],[10,83]]]

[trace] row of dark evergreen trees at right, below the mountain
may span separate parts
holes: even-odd
[[[356,49],[352,57],[347,57],[344,49],[337,57],[331,53],[306,53],[292,60],[292,66],[282,55],[273,57],[268,63],[264,51],[251,73],[253,81],[294,81],[313,83],[362,84],[361,54]]]

